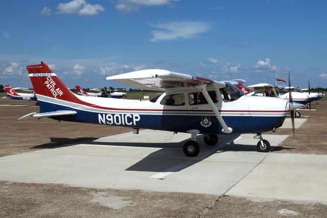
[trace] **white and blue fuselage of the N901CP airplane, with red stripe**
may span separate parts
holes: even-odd
[[[184,96],[186,101],[180,105],[162,104],[165,96],[174,94]],[[77,112],[74,116],[62,116],[60,120],[172,132],[197,129],[201,134],[223,134],[222,126],[208,104],[192,105],[190,92],[164,93],[155,102],[76,96],[76,102],[50,99],[43,95],[37,95],[37,98],[40,108],[45,108],[45,111],[55,104],[58,111]],[[242,96],[230,102],[223,102],[220,98],[215,105],[233,133],[267,132],[281,126],[288,113],[288,102],[277,98]]]

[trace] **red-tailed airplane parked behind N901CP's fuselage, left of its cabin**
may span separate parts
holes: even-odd
[[[122,98],[122,97],[126,98],[128,96],[124,92],[117,92],[117,91],[121,91],[121,90],[110,90],[106,87],[104,89],[90,89],[90,91],[95,91],[97,93],[85,92],[79,85],[76,85],[75,88],[76,88],[78,94],[83,95],[83,96],[104,97],[104,98]]]

